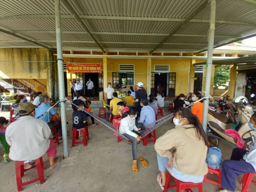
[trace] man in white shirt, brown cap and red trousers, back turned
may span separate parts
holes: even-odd
[[[54,168],[61,158],[57,153],[54,140],[50,140],[51,130],[46,122],[36,119],[35,108],[32,103],[19,105],[20,118],[6,128],[6,141],[12,146],[9,157],[14,161],[36,160],[47,153],[50,169]],[[25,163],[24,169],[32,165]]]

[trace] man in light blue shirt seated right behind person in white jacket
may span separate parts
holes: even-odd
[[[137,128],[152,128],[156,123],[154,109],[148,106],[148,99],[145,98],[141,99],[140,105],[142,109],[140,112],[140,120],[136,124]]]

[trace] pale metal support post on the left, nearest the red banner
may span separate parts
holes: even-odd
[[[58,58],[58,90],[59,99],[65,99],[65,84],[64,69],[63,69],[63,52],[61,40],[61,4],[60,0],[55,0],[55,26],[56,26],[56,41],[57,41],[57,58]],[[61,125],[62,125],[62,139],[63,139],[63,155],[68,156],[67,148],[67,119],[66,119],[66,105],[61,102]],[[57,137],[57,136],[56,136]]]

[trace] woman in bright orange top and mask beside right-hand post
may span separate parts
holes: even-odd
[[[199,92],[193,93],[192,101],[196,102],[194,105],[192,105],[192,113],[196,115],[202,124],[203,122],[203,111],[204,111],[204,101],[201,100],[200,102],[197,102],[199,99],[202,98],[202,94]]]

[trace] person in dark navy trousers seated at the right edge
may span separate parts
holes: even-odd
[[[253,114],[248,122],[252,130],[256,130],[256,114]],[[220,192],[233,192],[236,190],[236,177],[244,173],[256,173],[256,134],[254,142],[244,144],[244,148],[234,148],[230,160],[224,160],[221,169]],[[237,142],[237,141],[236,141]]]

